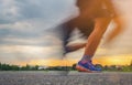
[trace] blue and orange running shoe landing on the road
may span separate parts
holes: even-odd
[[[88,73],[94,73],[94,72],[101,72],[101,68],[99,67],[95,67],[95,65],[92,64],[91,61],[88,62],[78,62],[78,64],[76,65],[77,71],[79,72],[88,72]]]

